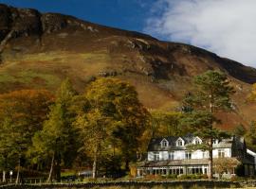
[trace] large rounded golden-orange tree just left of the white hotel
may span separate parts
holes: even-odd
[[[80,112],[76,125],[83,130],[84,144],[94,148],[94,177],[97,177],[97,156],[107,146],[114,155],[121,154],[129,169],[129,162],[137,158],[139,140],[149,115],[138,101],[135,88],[116,78],[99,78],[86,88],[84,97],[88,100],[88,108],[80,109],[84,111]],[[88,143],[90,140],[86,136],[92,132],[96,133],[91,134],[90,140],[94,142]],[[102,137],[103,144],[98,142],[96,146],[96,141]]]

